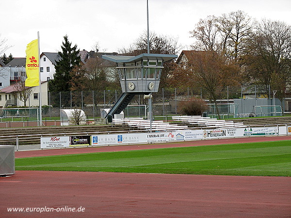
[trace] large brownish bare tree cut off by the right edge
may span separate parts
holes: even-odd
[[[282,101],[291,88],[291,26],[262,20],[247,43],[244,63],[248,81],[266,87],[271,84]]]

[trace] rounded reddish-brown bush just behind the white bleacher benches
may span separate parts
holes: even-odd
[[[208,109],[205,101],[197,98],[180,101],[178,111],[187,116],[201,116]]]

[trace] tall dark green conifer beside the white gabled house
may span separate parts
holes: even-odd
[[[68,36],[64,36],[62,52],[59,51],[60,61],[56,61],[54,79],[49,81],[50,92],[68,92],[71,88],[71,71],[74,67],[79,66],[81,58],[80,50],[77,45],[71,47],[72,43],[68,41]]]

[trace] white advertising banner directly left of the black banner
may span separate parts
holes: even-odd
[[[70,146],[70,137],[41,137],[40,147],[41,148],[65,148]]]

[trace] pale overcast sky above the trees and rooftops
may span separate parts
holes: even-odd
[[[249,16],[291,25],[291,0],[148,0],[149,29],[178,37],[184,49],[199,19],[241,10]],[[146,30],[146,0],[0,0],[1,39],[13,46],[5,53],[25,57],[28,43],[40,34],[40,52],[61,50],[63,36],[87,51],[117,51]]]

